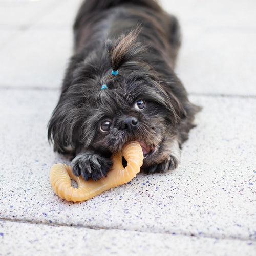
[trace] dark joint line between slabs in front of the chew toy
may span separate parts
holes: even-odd
[[[179,233],[177,230],[175,232],[173,231],[163,231],[163,232],[152,232],[152,231],[145,231],[145,230],[136,230],[136,229],[122,229],[122,228],[107,228],[107,227],[99,227],[96,225],[69,225],[69,224],[63,224],[63,223],[47,223],[47,222],[39,222],[39,221],[32,221],[32,220],[19,220],[19,219],[9,219],[9,218],[0,218],[0,221],[8,221],[8,222],[15,222],[15,223],[22,223],[22,224],[31,224],[31,225],[45,225],[45,226],[52,226],[52,227],[73,227],[73,228],[87,228],[87,229],[93,229],[93,230],[120,230],[120,231],[130,231],[130,232],[140,232],[140,233],[152,233],[152,234],[169,234],[173,236],[186,236],[186,237],[195,237],[195,238],[209,238],[209,239],[221,239],[221,240],[239,240],[239,241],[248,241],[248,242],[255,242],[254,239],[250,238],[238,238],[233,236],[213,236],[210,234],[187,234],[185,232],[180,231]]]

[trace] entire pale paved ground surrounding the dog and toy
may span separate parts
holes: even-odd
[[[49,170],[69,159],[46,126],[80,1],[0,0],[0,255],[255,255],[256,2],[162,2],[182,25],[176,71],[203,106],[181,164],[68,203]]]

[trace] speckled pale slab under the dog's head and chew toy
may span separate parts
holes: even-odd
[[[174,172],[139,174],[87,202],[68,203],[49,183],[46,124],[53,90],[0,93],[0,218],[256,240],[255,98],[194,96],[198,127]]]

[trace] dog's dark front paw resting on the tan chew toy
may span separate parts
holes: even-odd
[[[73,159],[72,168],[74,175],[81,175],[86,181],[89,178],[96,181],[106,177],[106,173],[112,164],[112,160],[109,158],[102,157],[95,153],[84,152]]]

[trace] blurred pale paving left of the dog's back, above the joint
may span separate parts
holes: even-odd
[[[80,2],[0,1],[0,33],[4,32],[0,56],[5,63],[0,86],[60,87],[72,54],[72,24]],[[6,31],[14,28],[22,33],[12,36],[7,44]]]

